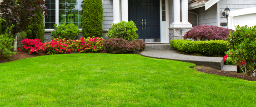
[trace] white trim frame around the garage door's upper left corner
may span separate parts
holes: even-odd
[[[235,29],[235,26],[233,26],[233,17],[246,14],[256,14],[256,7],[230,11],[228,16],[228,28]]]

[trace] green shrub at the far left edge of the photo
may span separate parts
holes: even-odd
[[[12,56],[16,54],[16,52],[12,52],[14,39],[11,38],[10,29],[7,28],[4,34],[0,34],[0,58],[5,60],[12,60]]]

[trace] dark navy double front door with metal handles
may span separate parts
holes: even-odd
[[[160,39],[160,1],[129,0],[129,20],[135,22],[139,39]]]

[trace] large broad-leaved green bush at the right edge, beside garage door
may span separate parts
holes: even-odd
[[[228,58],[233,64],[240,66],[244,74],[251,76],[256,72],[256,26],[236,26],[226,39],[229,51]]]

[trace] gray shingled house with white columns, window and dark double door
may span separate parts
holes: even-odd
[[[74,23],[81,28],[83,0],[46,0],[49,19],[45,19],[45,41],[51,39],[53,24]],[[102,0],[105,35],[112,23],[134,21],[139,39],[145,42],[168,43],[182,39],[196,25],[256,24],[256,0]],[[228,19],[222,11],[230,9]],[[226,24],[225,24],[226,23]]]

